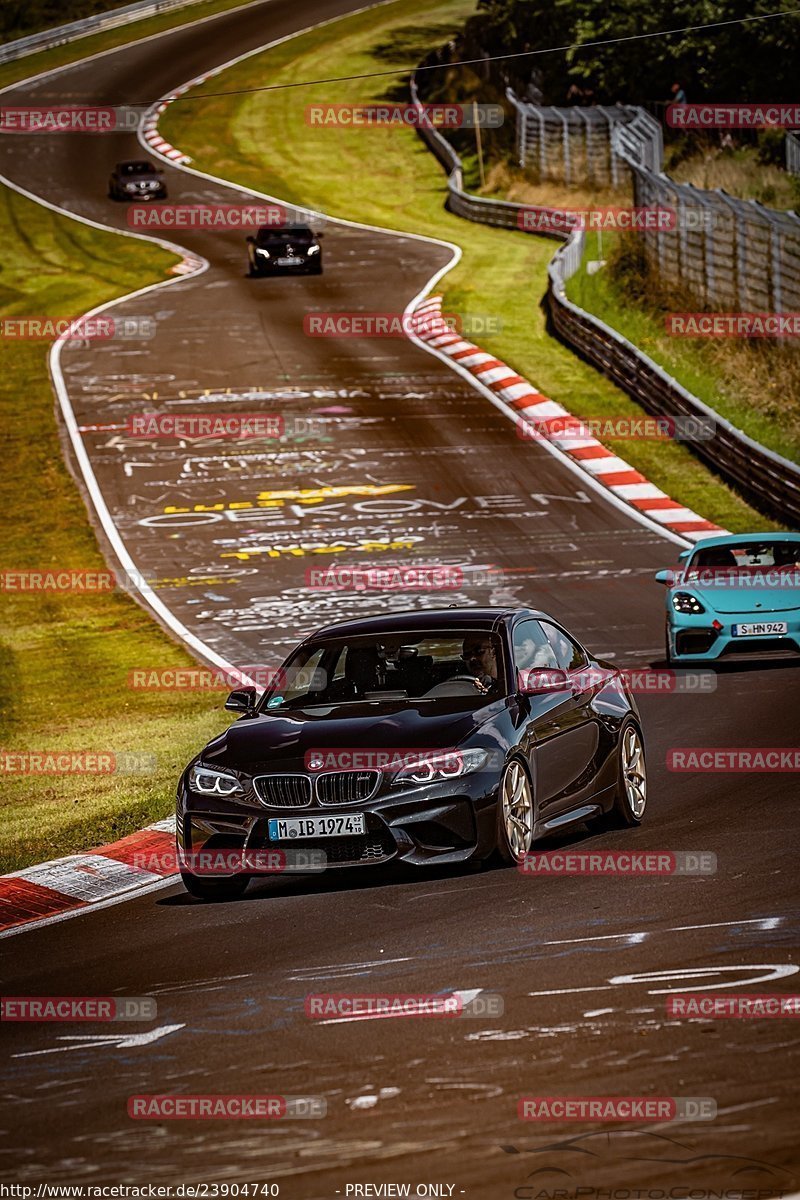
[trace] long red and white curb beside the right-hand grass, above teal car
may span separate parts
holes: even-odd
[[[545,396],[507,364],[455,332],[441,316],[441,296],[429,296],[416,306],[411,313],[411,328],[420,341],[475,376],[505,403],[513,416],[523,416],[530,421],[535,436],[552,442],[596,482],[637,512],[687,541],[699,541],[728,532],[672,500],[640,472],[593,437],[579,418]]]

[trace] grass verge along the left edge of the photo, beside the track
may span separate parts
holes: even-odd
[[[2,188],[0,316],[72,317],[164,277],[146,242],[100,233]],[[48,344],[5,342],[0,572],[102,570],[61,456]],[[0,870],[96,846],[167,816],[179,769],[225,725],[218,694],[132,691],[134,667],[192,659],[122,593],[0,589],[0,751],[146,751],[155,774],[0,775]]]

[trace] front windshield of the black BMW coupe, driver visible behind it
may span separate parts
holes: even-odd
[[[504,678],[500,638],[483,630],[337,637],[301,647],[261,712],[445,697],[479,707],[505,695]]]

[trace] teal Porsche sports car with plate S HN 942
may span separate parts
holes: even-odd
[[[800,534],[704,538],[656,580],[669,589],[668,662],[800,661]]]

